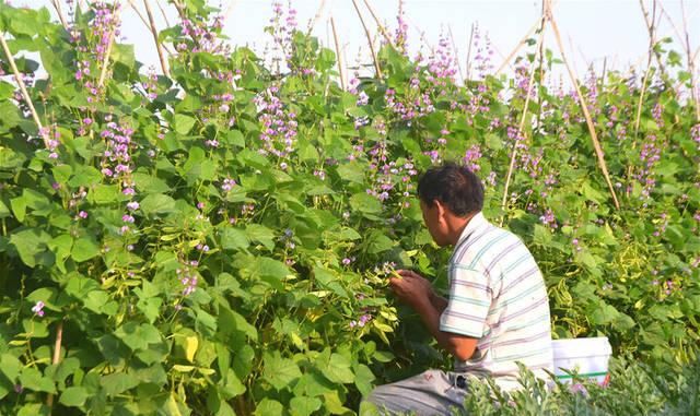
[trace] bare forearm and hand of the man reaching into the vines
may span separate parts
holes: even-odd
[[[398,298],[409,304],[420,314],[428,330],[441,347],[459,360],[471,358],[477,338],[440,330],[440,316],[447,300],[435,295],[430,282],[410,271],[399,271],[401,278],[393,277],[389,284]]]

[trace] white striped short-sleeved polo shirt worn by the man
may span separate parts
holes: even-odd
[[[481,213],[467,224],[448,263],[450,301],[440,330],[478,338],[455,371],[490,375],[517,389],[516,361],[537,377],[553,371],[549,299],[542,275],[523,241]]]

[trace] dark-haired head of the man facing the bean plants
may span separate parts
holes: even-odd
[[[423,221],[439,246],[455,242],[460,229],[483,206],[483,186],[467,167],[455,163],[430,168],[418,182]]]

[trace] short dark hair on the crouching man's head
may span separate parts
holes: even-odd
[[[453,214],[467,216],[483,207],[483,186],[468,167],[447,162],[431,167],[420,178],[418,198],[428,206],[433,206],[438,200]]]

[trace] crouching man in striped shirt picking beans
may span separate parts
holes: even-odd
[[[516,389],[520,361],[546,378],[545,370],[553,370],[547,288],[520,238],[481,214],[480,180],[464,166],[445,164],[423,175],[418,197],[433,240],[455,247],[447,265],[450,296],[438,296],[430,282],[408,270],[389,284],[454,356],[454,371],[428,370],[380,385],[365,401],[388,414],[450,414],[463,405],[470,377],[488,375],[502,389]]]

